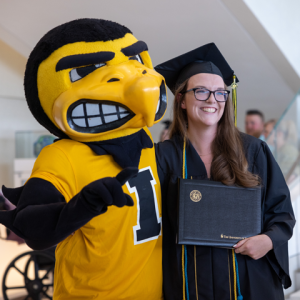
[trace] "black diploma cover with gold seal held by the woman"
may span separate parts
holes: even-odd
[[[232,248],[260,233],[260,187],[179,179],[178,244]]]

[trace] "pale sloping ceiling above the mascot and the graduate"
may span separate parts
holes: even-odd
[[[241,0],[0,0],[0,39],[27,57],[48,30],[76,18],[124,24],[148,44],[154,65],[215,42],[240,80],[240,129],[247,109],[278,118],[298,82],[300,87],[296,73],[287,72],[291,66]],[[297,77],[293,85],[285,74]]]

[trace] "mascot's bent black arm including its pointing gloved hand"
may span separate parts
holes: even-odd
[[[118,176],[123,179],[122,174]],[[131,197],[123,193],[118,176],[88,184],[68,203],[50,182],[31,178],[20,193],[17,208],[0,212],[0,221],[29,247],[50,248],[106,212],[107,206],[133,205]]]

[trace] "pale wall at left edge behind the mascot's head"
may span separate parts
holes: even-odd
[[[26,58],[0,41],[0,187],[13,186],[15,131],[41,130],[23,91]]]

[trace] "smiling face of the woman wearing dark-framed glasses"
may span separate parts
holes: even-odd
[[[202,88],[210,91],[224,90],[224,81],[215,74],[196,74],[192,76],[187,84],[187,90]],[[181,108],[187,112],[188,124],[195,127],[217,127],[221,119],[226,102],[216,101],[213,93],[206,101],[195,98],[194,91],[187,92],[181,102]]]

